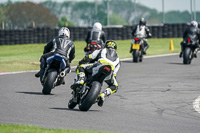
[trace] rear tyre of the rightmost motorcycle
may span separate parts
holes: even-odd
[[[186,47],[183,51],[183,64],[190,64],[192,60],[192,50],[189,47]]]

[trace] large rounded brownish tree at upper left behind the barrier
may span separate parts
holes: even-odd
[[[32,26],[33,22],[37,27],[56,27],[57,25],[57,16],[42,4],[23,2],[10,4],[8,7],[7,23],[10,23],[13,28]]]

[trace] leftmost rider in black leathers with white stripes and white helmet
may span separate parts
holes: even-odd
[[[44,47],[43,55],[40,58],[40,71],[35,74],[35,77],[39,78],[43,75],[46,67],[46,59],[54,54],[62,55],[65,59],[66,67],[70,68],[70,63],[75,57],[75,46],[70,39],[70,31],[67,27],[60,28],[58,36]]]

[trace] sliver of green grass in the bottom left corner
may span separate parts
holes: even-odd
[[[35,126],[0,124],[0,133],[108,133],[108,132],[46,129]]]

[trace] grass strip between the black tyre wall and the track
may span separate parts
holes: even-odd
[[[170,40],[173,40],[174,51],[169,50]],[[148,39],[150,48],[147,56],[180,52],[181,38]],[[131,40],[117,40],[118,55],[120,59],[132,58],[129,53]],[[84,57],[84,41],[75,41],[76,54],[72,66]],[[45,44],[2,45],[0,46],[0,72],[15,72],[39,70],[39,58],[43,53]]]

